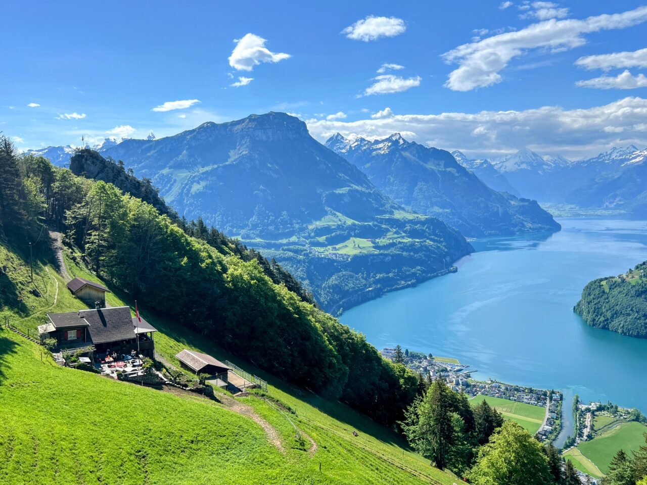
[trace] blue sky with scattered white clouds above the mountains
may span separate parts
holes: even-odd
[[[646,27],[637,2],[13,2],[0,130],[25,149],[274,110],[319,140],[579,158],[647,144]]]

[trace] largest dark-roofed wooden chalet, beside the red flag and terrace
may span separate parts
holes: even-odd
[[[47,314],[49,322],[38,327],[41,340],[56,339],[59,352],[88,352],[99,358],[133,350],[153,357],[157,329],[146,320],[131,316],[130,307],[93,308],[69,313]]]

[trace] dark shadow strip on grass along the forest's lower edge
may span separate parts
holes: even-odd
[[[170,322],[168,319],[160,317],[159,315],[150,315],[149,312],[142,312],[142,316],[144,316],[144,318],[149,322],[153,323],[155,328],[160,332],[182,344],[182,348],[178,348],[177,352],[180,352],[184,348],[196,349],[199,352],[209,354],[221,361],[230,360],[245,369],[245,371],[250,372],[250,374],[256,374],[260,378],[266,380],[270,385],[276,387],[283,393],[291,394],[318,409],[325,415],[338,420],[341,424],[347,425],[349,435],[351,435],[353,431],[357,431],[358,433],[371,435],[384,443],[397,444],[400,447],[408,448],[406,441],[404,438],[400,437],[400,435],[391,431],[388,427],[371,420],[371,418],[356,411],[347,404],[338,400],[325,398],[313,393],[313,391],[284,382],[276,378],[273,374],[269,374],[268,372],[259,369],[253,362],[247,361],[225,349],[222,349],[208,336],[201,336],[197,332],[186,329],[186,327],[181,327],[180,325]],[[173,352],[173,354],[175,353],[176,352]],[[177,365],[177,362],[175,365]],[[297,414],[298,411],[299,410],[296,409]]]

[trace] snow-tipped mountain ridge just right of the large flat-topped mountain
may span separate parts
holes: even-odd
[[[404,140],[347,140],[336,134],[326,146],[353,162],[371,182],[411,210],[433,215],[471,237],[559,230],[532,200],[489,188],[451,153]]]

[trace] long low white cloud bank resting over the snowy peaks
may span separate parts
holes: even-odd
[[[313,119],[307,120],[307,125],[320,141],[336,132],[347,138],[360,135],[371,139],[410,132],[415,133],[411,139],[419,143],[460,149],[475,157],[527,146],[538,153],[577,159],[614,145],[647,146],[646,119],[647,99],[630,97],[587,109],[543,106],[525,111],[393,114],[352,122]]]

